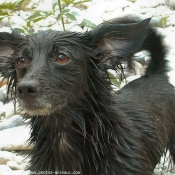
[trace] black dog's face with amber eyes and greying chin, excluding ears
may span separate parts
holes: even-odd
[[[72,37],[72,33],[41,32],[25,38],[14,53],[16,93],[28,113],[46,115],[73,103],[77,96],[83,98],[88,49],[78,35]]]

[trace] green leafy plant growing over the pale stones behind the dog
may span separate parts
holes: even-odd
[[[66,28],[67,24],[73,23],[79,25],[80,27],[94,28],[96,25],[91,21],[84,19],[80,24],[76,23],[78,12],[71,12],[72,7],[76,7],[85,2],[91,0],[55,0],[53,1],[52,9],[50,11],[39,11],[37,10],[38,4],[42,3],[42,0],[38,0],[37,5],[30,7],[32,0],[18,0],[16,2],[5,2],[0,5],[0,21],[4,18],[11,18],[14,15],[20,16],[20,12],[29,13],[27,17],[23,17],[26,25],[19,26],[14,30],[21,33],[33,33],[36,29],[38,22],[46,20],[52,17],[56,20],[58,26],[62,26],[62,30],[68,30]],[[51,3],[51,2],[50,2]],[[49,24],[47,27],[52,27],[55,23]],[[42,29],[42,25],[39,26]]]

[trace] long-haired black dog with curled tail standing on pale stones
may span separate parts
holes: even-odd
[[[31,117],[31,171],[151,175],[165,150],[175,160],[175,91],[149,21],[113,20],[86,33],[0,33],[0,72]],[[142,49],[152,57],[145,76],[113,93],[108,68],[131,65]]]

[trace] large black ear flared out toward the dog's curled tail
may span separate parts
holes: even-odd
[[[126,19],[105,22],[91,31],[92,43],[98,55],[98,65],[109,68],[129,62],[131,56],[138,52],[148,35],[150,19],[141,22]]]

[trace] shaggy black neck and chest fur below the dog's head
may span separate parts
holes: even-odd
[[[113,127],[112,98],[104,82],[94,81],[93,85],[102,90],[84,93],[80,101],[64,112],[32,117],[31,142],[35,144],[31,153],[32,171],[84,172],[87,169],[89,175],[96,171],[94,165],[105,161],[107,140]]]

